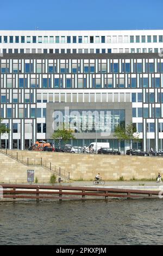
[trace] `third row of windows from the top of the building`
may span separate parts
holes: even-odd
[[[104,63],[105,62],[105,63]],[[115,63],[116,62],[116,63]],[[131,60],[96,60],[89,63],[84,60],[80,62],[76,60],[74,62],[66,62],[66,61],[56,61],[52,60],[49,63],[37,63],[37,62],[30,62],[28,63],[25,60],[25,63],[18,63],[17,60],[14,60],[13,63],[5,62],[1,63],[1,73],[49,73],[49,74],[83,74],[83,73],[108,73],[108,74],[117,74],[117,73],[162,73],[163,72],[163,63],[160,60],[155,60],[155,62],[148,62],[146,60],[142,60],[142,62],[134,62],[133,59]]]

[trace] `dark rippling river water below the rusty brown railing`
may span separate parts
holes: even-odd
[[[161,245],[163,200],[0,202],[0,245]]]

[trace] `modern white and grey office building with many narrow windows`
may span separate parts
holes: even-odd
[[[55,113],[73,123],[73,145],[110,142],[115,125],[133,122],[141,142],[134,148],[163,145],[163,31],[0,31],[0,108],[8,148],[24,149],[36,140],[52,142]],[[90,113],[104,118],[110,133],[92,126]],[[58,121],[59,123],[59,121]],[[73,128],[71,126],[71,128]],[[107,130],[107,129],[106,129]],[[121,150],[129,147],[121,142]]]

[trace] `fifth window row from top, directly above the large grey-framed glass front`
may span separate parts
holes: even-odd
[[[22,98],[23,97],[23,98]],[[163,103],[163,93],[37,93],[14,92],[11,96],[9,93],[1,93],[1,104],[5,103],[46,103],[46,102],[143,102],[143,103]],[[45,109],[43,113],[39,108],[36,117],[46,117]],[[42,113],[42,114],[41,114]]]

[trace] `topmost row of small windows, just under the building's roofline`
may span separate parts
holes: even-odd
[[[99,44],[128,42],[163,42],[162,35],[112,35],[112,36],[0,36],[0,43],[43,43],[43,44]]]

